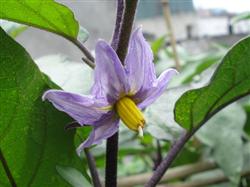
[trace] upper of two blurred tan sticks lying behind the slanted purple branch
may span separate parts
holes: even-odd
[[[173,180],[173,179],[182,179],[193,175],[195,173],[215,169],[216,164],[214,162],[198,162],[194,164],[187,164],[183,166],[177,166],[174,168],[170,168],[166,174],[161,178],[161,182]],[[152,172],[143,173],[139,175],[133,175],[128,177],[122,177],[118,180],[118,186],[120,187],[133,187],[136,185],[145,184],[152,176]]]

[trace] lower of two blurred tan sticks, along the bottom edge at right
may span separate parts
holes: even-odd
[[[241,177],[248,177],[250,176],[250,170],[241,172]],[[162,184],[157,187],[205,187],[213,184],[219,184],[222,182],[227,182],[228,177],[226,177],[223,173],[221,175],[208,178],[208,179],[202,179],[202,180],[194,180],[190,182],[185,183],[173,183],[173,184]]]

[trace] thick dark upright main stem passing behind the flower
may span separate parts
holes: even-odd
[[[125,0],[125,9],[123,0],[117,1],[116,26],[111,45],[116,50],[116,53],[122,63],[124,62],[127,54],[136,7],[137,0]],[[117,186],[118,137],[119,135],[117,132],[107,140],[105,176],[106,187]]]

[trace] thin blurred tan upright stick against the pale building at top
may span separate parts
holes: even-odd
[[[177,70],[180,70],[180,61],[179,61],[179,57],[178,57],[178,53],[177,53],[177,49],[176,49],[176,40],[175,40],[175,36],[174,36],[174,30],[173,30],[172,23],[171,23],[169,2],[168,2],[168,0],[162,0],[161,2],[162,2],[164,19],[166,21],[166,25],[167,25],[168,31],[169,31],[171,47],[173,49],[173,57],[174,57],[174,61],[175,61],[175,66],[176,66]]]

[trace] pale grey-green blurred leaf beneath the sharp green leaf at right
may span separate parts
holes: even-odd
[[[235,103],[217,113],[197,133],[199,140],[212,149],[211,156],[216,163],[236,184],[243,168],[242,135],[245,121],[243,108]]]

